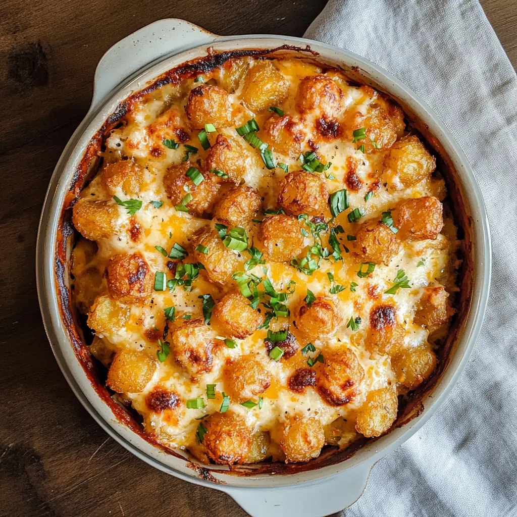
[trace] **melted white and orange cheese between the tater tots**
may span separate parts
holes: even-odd
[[[321,70],[314,65],[300,62],[299,60],[280,60],[276,66],[282,71],[290,83],[290,95],[282,102],[279,107],[286,114],[294,114],[294,99],[300,80],[307,75],[315,75]],[[220,70],[212,73],[214,77],[220,77]],[[358,87],[351,86],[346,79],[338,72],[327,73],[333,78],[343,91],[343,105],[349,108],[355,104],[357,110],[366,113],[374,95],[365,95],[364,91]],[[242,81],[241,81],[242,83]],[[145,257],[151,271],[166,271],[166,259],[159,253],[155,246],[159,245],[170,250],[175,242],[189,247],[189,239],[192,233],[200,226],[206,224],[206,220],[193,217],[185,212],[177,211],[167,199],[163,188],[163,176],[171,164],[179,163],[185,155],[185,148],[179,145],[177,149],[169,149],[161,144],[162,138],[174,138],[172,134],[167,134],[166,129],[159,137],[149,131],[152,124],[157,123],[164,112],[171,110],[184,114],[185,102],[188,90],[197,86],[189,81],[181,88],[171,89],[164,87],[156,90],[152,95],[144,97],[135,107],[134,111],[127,117],[126,123],[111,132],[106,140],[106,151],[104,158],[107,161],[115,161],[120,157],[129,157],[136,163],[145,166],[145,177],[143,188],[138,197],[142,201],[142,208],[136,213],[135,219],[144,231],[144,238],[138,242],[133,242],[127,231],[117,232],[108,239],[98,242],[98,251],[94,257],[86,258],[75,253],[74,274],[79,275],[88,267],[97,267],[103,270],[109,258],[117,253],[131,253],[139,251]],[[240,87],[230,95],[234,104],[240,103]],[[167,111],[169,110],[169,111]],[[236,126],[245,124],[246,121],[255,117],[258,124],[262,126],[264,120],[270,113],[251,113],[247,109],[240,109],[236,120]],[[183,115],[185,124],[186,119]],[[311,139],[314,119],[310,116],[305,120],[303,131],[305,141],[302,149],[308,150],[307,142]],[[234,128],[227,128],[219,132],[235,136]],[[206,158],[206,151],[201,148],[197,141],[196,131],[192,132],[192,140],[186,143],[194,145],[200,149],[199,158]],[[215,135],[210,134],[210,141],[213,143]],[[156,157],[153,148],[158,146],[161,153]],[[246,144],[243,141],[243,147]],[[332,165],[327,174],[334,176],[334,179],[327,179],[327,187],[330,193],[343,188],[344,178],[347,172],[347,159],[354,157],[358,162],[357,175],[364,184],[360,192],[349,192],[350,206],[364,208],[366,215],[361,222],[370,218],[379,219],[382,211],[393,207],[399,200],[408,197],[421,197],[427,195],[437,196],[443,199],[445,193],[444,182],[439,179],[426,179],[415,187],[391,192],[385,188],[376,190],[375,195],[368,201],[364,201],[364,194],[370,190],[382,172],[382,162],[385,153],[363,154],[356,149],[357,144],[352,143],[351,138],[339,138],[330,142],[320,142],[318,153],[331,161]],[[246,146],[247,173],[244,177],[245,183],[257,189],[264,198],[263,206],[275,207],[277,203],[277,185],[283,177],[281,169],[267,170],[260,158],[258,151]],[[274,151],[274,149],[273,149]],[[282,156],[275,151],[277,162],[286,163],[290,170],[300,168],[300,162],[287,156]],[[115,192],[120,199],[126,199],[121,189]],[[95,178],[92,183],[83,191],[87,196],[95,194],[98,199],[110,199],[101,184],[99,178]],[[150,203],[152,201],[162,201],[163,205],[157,209]],[[341,224],[344,234],[354,234],[355,224],[351,224],[346,218],[347,211],[337,217],[336,224]],[[127,227],[129,216],[123,207],[119,207],[120,228]],[[447,222],[453,229],[451,221]],[[254,224],[249,228],[250,241],[256,241],[258,225]],[[322,341],[316,340],[314,345],[323,355],[328,349],[343,345],[351,346],[356,353],[361,366],[364,369],[364,381],[358,390],[358,397],[351,403],[343,406],[329,406],[319,396],[316,390],[308,388],[305,393],[297,394],[287,388],[288,377],[296,368],[306,366],[307,357],[297,354],[291,360],[285,362],[275,362],[269,360],[267,356],[267,367],[272,374],[273,382],[268,390],[263,394],[264,404],[262,409],[258,406],[247,409],[244,406],[233,403],[232,410],[237,412],[253,427],[255,431],[270,431],[275,439],[278,436],[283,422],[296,416],[312,415],[319,419],[325,426],[330,425],[338,418],[354,421],[354,412],[364,402],[370,390],[381,388],[387,385],[396,384],[389,356],[369,354],[363,346],[364,335],[369,327],[369,313],[374,303],[378,301],[390,301],[397,307],[397,317],[399,322],[406,328],[406,346],[416,346],[426,343],[428,331],[411,323],[415,312],[415,303],[418,300],[420,288],[427,285],[446,285],[449,290],[454,286],[455,272],[451,267],[451,256],[455,250],[453,232],[449,232],[449,238],[441,234],[435,241],[404,242],[400,253],[394,257],[389,266],[378,265],[368,278],[358,278],[357,270],[359,265],[354,263],[346,253],[343,252],[344,261],[332,263],[322,260],[321,268],[314,272],[312,276],[306,276],[288,264],[266,263],[267,276],[271,279],[277,291],[285,291],[290,281],[296,282],[296,289],[288,299],[287,306],[292,310],[301,298],[306,296],[307,289],[315,295],[326,295],[333,297],[340,313],[343,316],[343,325],[329,339]],[[323,244],[327,245],[328,236],[323,237]],[[312,238],[306,238],[306,245],[312,243]],[[342,241],[346,246],[346,240]],[[242,261],[247,260],[246,253],[242,254]],[[417,264],[421,259],[423,265]],[[87,262],[87,264],[86,264]],[[257,275],[262,276],[262,267],[257,266]],[[410,279],[412,288],[400,289],[396,296],[383,295],[392,285],[392,280],[396,277],[398,269],[403,269]],[[336,295],[329,295],[330,283],[327,273],[332,272],[336,283],[347,287],[344,291]],[[349,288],[351,282],[358,285],[355,292]],[[375,287],[379,293],[377,298],[372,298],[369,288]],[[102,287],[106,289],[105,285]],[[129,322],[122,329],[111,329],[105,331],[101,336],[107,340],[114,349],[148,349],[153,355],[156,354],[157,344],[150,341],[145,334],[148,329],[158,328],[160,331],[165,324],[163,309],[174,306],[176,308],[176,321],[181,323],[183,315],[191,315],[192,319],[202,316],[200,295],[210,293],[216,300],[219,299],[224,290],[211,284],[204,271],[194,281],[191,291],[185,291],[178,287],[173,293],[163,292],[154,293],[152,300],[143,307],[131,307]],[[370,290],[371,293],[371,290]],[[361,317],[362,324],[357,332],[346,327],[346,322],[351,317]],[[272,328],[280,328],[284,322],[272,323]],[[302,337],[292,329],[299,340],[300,346],[306,343]],[[217,329],[213,330],[213,337],[218,336]],[[127,393],[133,407],[144,417],[144,426],[147,432],[152,433],[164,445],[170,447],[193,447],[195,444],[195,432],[199,425],[196,418],[206,414],[217,412],[222,402],[221,392],[224,390],[222,380],[222,369],[227,358],[236,358],[241,354],[255,353],[264,355],[264,338],[266,330],[256,331],[252,336],[244,340],[237,340],[238,346],[234,349],[222,347],[214,360],[214,367],[209,373],[200,375],[197,379],[191,379],[187,373],[174,361],[173,354],[163,362],[159,363],[158,369],[141,393]],[[313,354],[315,356],[315,354]],[[316,367],[317,368],[317,365]],[[208,400],[205,389],[207,384],[216,384],[216,399]],[[170,389],[181,399],[181,405],[174,412],[165,410],[162,413],[154,413],[149,410],[145,403],[145,398],[157,385]],[[204,409],[187,409],[185,401],[196,397],[205,399]],[[357,434],[352,427],[343,428],[338,436],[338,443],[341,446],[348,445],[353,441]]]

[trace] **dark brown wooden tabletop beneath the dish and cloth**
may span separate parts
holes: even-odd
[[[57,159],[113,43],[168,17],[219,34],[301,36],[325,0],[3,0],[0,6],[0,515],[242,516],[230,497],[165,475],[109,438],[75,399],[36,297],[36,230]],[[482,5],[513,65],[514,0]]]

